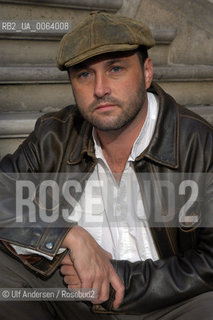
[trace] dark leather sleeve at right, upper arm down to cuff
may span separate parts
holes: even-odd
[[[208,159],[211,154],[212,149],[209,149]],[[189,230],[177,229],[178,249],[174,255],[135,263],[112,260],[125,286],[124,300],[118,309],[113,310],[114,292],[111,289],[109,301],[93,306],[95,312],[143,314],[213,290],[212,160],[206,164],[208,173],[205,173],[205,187],[201,190],[204,196],[200,203],[199,226]],[[193,240],[188,241],[188,247],[186,239]]]

